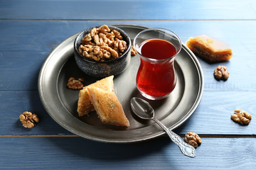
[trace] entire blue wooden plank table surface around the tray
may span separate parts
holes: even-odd
[[[256,1],[0,1],[0,169],[256,169]],[[197,157],[184,157],[163,135],[132,144],[78,137],[50,118],[38,95],[38,74],[56,45],[102,24],[137,24],[173,30],[182,42],[209,35],[233,49],[228,62],[203,69],[201,103],[175,132],[201,136]],[[216,81],[218,64],[228,81]],[[235,109],[249,125],[230,119]],[[18,116],[40,116],[32,129]]]

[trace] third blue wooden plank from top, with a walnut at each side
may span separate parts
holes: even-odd
[[[255,101],[255,92],[205,91],[197,110],[175,131],[181,135],[192,131],[199,135],[255,136]],[[0,108],[0,135],[73,135],[50,118],[41,104],[37,91],[0,91]],[[235,109],[250,113],[251,123],[245,126],[234,123],[230,115]],[[31,111],[39,116],[40,122],[35,128],[22,127],[18,116],[24,111]]]

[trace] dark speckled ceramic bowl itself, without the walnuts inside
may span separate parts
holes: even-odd
[[[100,26],[95,26],[92,28],[99,27]],[[114,26],[108,27],[110,28],[110,30],[118,30],[119,33],[121,33],[123,40],[127,42],[128,47],[123,55],[114,60],[107,60],[104,62],[94,61],[83,57],[78,52],[78,47],[80,47],[82,38],[84,38],[87,33],[90,33],[90,30],[92,30],[92,28],[87,28],[86,30],[83,30],[81,33],[79,33],[77,38],[75,38],[75,61],[78,64],[78,67],[82,70],[82,72],[85,72],[85,74],[88,74],[92,77],[108,77],[110,75],[117,75],[123,72],[124,69],[127,69],[131,60],[131,40],[127,33],[125,33],[124,30],[121,30],[120,28]]]

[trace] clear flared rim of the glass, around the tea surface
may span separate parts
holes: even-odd
[[[176,54],[173,55],[173,56],[171,56],[171,57],[168,57],[168,58],[166,58],[166,59],[153,59],[153,58],[145,57],[144,55],[141,54],[141,52],[137,51],[137,47],[136,47],[136,45],[135,45],[135,42],[136,42],[138,36],[141,35],[142,33],[145,33],[146,31],[149,31],[149,30],[162,30],[162,31],[163,31],[163,30],[165,30],[165,31],[167,30],[168,32],[174,34],[174,35],[176,36],[177,40],[178,40],[178,43],[180,44],[180,47],[178,48],[178,51],[176,52]],[[151,40],[151,39],[154,39],[154,38],[149,38],[149,39],[147,39],[147,40]],[[159,39],[161,39],[161,38],[159,38]],[[161,40],[164,40],[164,39],[161,39]],[[148,29],[142,30],[141,32],[139,32],[139,33],[135,36],[134,41],[133,41],[133,46],[134,46],[135,50],[139,53],[140,57],[142,57],[142,58],[144,58],[144,59],[146,59],[146,60],[149,60],[149,61],[151,61],[151,62],[161,62],[161,61],[170,60],[170,59],[176,57],[176,55],[178,55],[178,53],[181,52],[182,42],[181,42],[181,38],[179,38],[178,35],[177,35],[176,33],[174,33],[174,31],[168,30],[168,29],[166,29],[166,28],[148,28]]]

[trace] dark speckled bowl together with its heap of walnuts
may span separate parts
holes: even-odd
[[[115,26],[95,26],[82,30],[74,42],[75,62],[92,77],[123,72],[131,60],[131,40]]]

